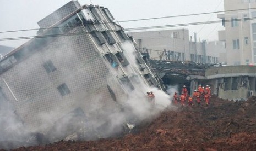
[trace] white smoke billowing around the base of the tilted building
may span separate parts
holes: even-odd
[[[59,39],[59,42],[62,42],[64,44],[65,37],[62,39]],[[77,40],[77,39],[75,39]],[[81,39],[83,41],[83,39]],[[56,42],[56,43],[59,43]],[[67,42],[68,43],[68,42]],[[61,47],[61,48],[59,48]],[[70,66],[70,71],[66,69],[64,71],[65,75],[59,75],[59,81],[65,81],[64,79],[72,78],[76,79],[77,77],[70,77],[70,75],[74,75],[73,72],[80,72],[79,69],[72,70],[72,68],[75,68],[75,66],[72,65],[72,58],[79,58],[77,54],[75,53],[75,50],[72,49],[72,47],[66,48],[66,45],[63,46],[56,46],[55,49],[63,49],[66,50],[64,53],[57,53],[56,51],[53,51],[53,53],[44,54],[45,58],[49,57],[51,58],[56,57],[56,60],[52,60],[53,64],[55,65],[62,65],[62,66]],[[156,115],[159,115],[161,111],[166,109],[167,107],[170,107],[171,104],[171,97],[170,95],[166,94],[162,90],[159,90],[155,87],[150,87],[144,78],[142,78],[139,75],[140,69],[137,64],[137,56],[135,54],[135,49],[133,47],[133,44],[130,42],[124,43],[122,45],[122,49],[124,50],[123,53],[127,57],[127,60],[129,61],[130,65],[127,67],[124,67],[124,71],[129,73],[137,73],[137,82],[134,82],[131,80],[132,85],[134,86],[134,90],[131,90],[129,86],[123,85],[123,88],[126,89],[127,94],[127,100],[117,100],[116,102],[116,109],[115,111],[105,111],[102,110],[102,106],[106,105],[104,104],[105,96],[99,94],[95,94],[93,98],[94,103],[90,104],[90,113],[84,113],[86,112],[86,109],[84,106],[89,105],[84,102],[86,102],[86,92],[80,91],[79,89],[75,89],[75,92],[77,96],[73,98],[74,100],[80,100],[72,104],[73,107],[78,106],[78,108],[74,108],[73,111],[66,111],[66,113],[63,113],[63,108],[66,108],[65,105],[61,105],[55,108],[52,108],[51,106],[48,107],[48,109],[42,109],[43,111],[47,112],[39,112],[39,114],[35,115],[28,115],[29,118],[35,119],[35,117],[38,117],[41,120],[42,125],[39,127],[35,127],[33,130],[27,130],[26,125],[24,125],[23,121],[21,121],[17,114],[15,114],[14,109],[10,109],[10,112],[12,114],[1,113],[0,118],[0,124],[4,125],[4,132],[3,130],[0,131],[0,141],[8,141],[12,140],[14,141],[21,141],[21,143],[17,143],[16,146],[1,146],[0,148],[13,148],[18,146],[26,146],[26,145],[32,145],[32,144],[43,144],[48,142],[55,142],[60,139],[64,138],[72,138],[74,140],[84,139],[84,140],[94,140],[95,138],[100,137],[111,137],[118,135],[119,133],[123,132],[123,128],[127,126],[127,123],[132,123],[135,126],[139,125],[144,120],[152,120],[156,117]],[[68,50],[68,51],[67,51]],[[67,55],[69,57],[67,57]],[[35,60],[35,58],[34,58]],[[38,60],[41,60],[41,62],[45,61],[42,60],[41,56],[39,56]],[[96,61],[95,61],[96,63]],[[36,64],[36,63],[34,63]],[[32,69],[34,68],[34,65],[30,65],[31,67],[26,66],[26,71],[20,71],[19,75],[22,75],[19,77],[20,80],[24,80],[24,82],[21,82],[22,85],[28,86],[31,85],[31,88],[35,88],[34,85],[38,84],[40,81],[40,77],[34,81],[33,79],[30,79],[30,75],[28,74],[34,74]],[[35,65],[36,66],[36,65]],[[94,66],[93,63],[90,63],[89,65],[86,65],[86,69],[92,69]],[[29,71],[28,71],[29,69]],[[31,69],[31,71],[30,71]],[[58,70],[58,69],[57,69]],[[69,73],[70,72],[70,73]],[[19,73],[19,72],[18,72]],[[150,73],[151,74],[151,73]],[[95,73],[96,75],[96,73]],[[87,76],[87,77],[86,77]],[[12,78],[12,77],[10,77]],[[85,82],[84,85],[89,85],[92,79],[94,78],[91,75],[85,75],[84,77],[89,82]],[[130,78],[130,77],[129,77]],[[74,81],[75,82],[75,81]],[[80,84],[80,83],[79,83]],[[111,83],[106,83],[106,85],[111,85]],[[67,83],[68,86],[69,83]],[[105,85],[105,86],[106,86]],[[48,85],[45,85],[48,86]],[[50,87],[49,87],[50,88]],[[95,88],[94,88],[95,89]],[[100,88],[101,89],[101,88]],[[105,88],[107,91],[108,89]],[[49,90],[50,91],[50,90]],[[146,92],[152,91],[155,95],[155,104],[152,105],[148,101],[148,98],[146,96]],[[169,94],[172,94],[172,89],[168,89],[167,92]],[[20,91],[22,93],[22,91]],[[34,94],[36,90],[31,89],[31,94]],[[114,91],[115,92],[115,91]],[[96,92],[94,92],[96,93]],[[126,94],[124,94],[126,95]],[[92,98],[88,98],[92,99]],[[57,102],[58,98],[56,100],[53,100],[53,102]],[[66,100],[67,101],[67,100]],[[106,100],[108,102],[115,102],[113,100]],[[67,101],[67,103],[69,103]],[[35,103],[36,104],[36,103]],[[79,108],[79,106],[81,108]],[[31,106],[29,109],[35,109],[40,108],[43,106]],[[27,111],[24,111],[27,112]],[[30,112],[28,112],[30,113]],[[88,114],[90,116],[88,117]],[[97,117],[96,115],[100,114],[102,117]],[[63,116],[62,116],[63,115]],[[8,117],[8,118],[7,118]],[[59,118],[61,117],[61,118]],[[50,130],[48,127],[52,127]],[[47,130],[44,136],[41,136],[38,132],[43,132],[43,130]],[[75,137],[73,137],[75,136]]]

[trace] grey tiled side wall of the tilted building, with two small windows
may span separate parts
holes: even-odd
[[[82,31],[77,27],[70,32]],[[42,65],[48,60],[56,70],[47,74]],[[1,74],[0,79],[3,93],[31,130],[43,128],[45,123],[53,124],[78,107],[89,119],[104,117],[102,111],[113,112],[118,107],[107,85],[117,100],[126,100],[121,85],[85,35],[57,37]],[[63,83],[70,90],[65,96],[57,89]]]

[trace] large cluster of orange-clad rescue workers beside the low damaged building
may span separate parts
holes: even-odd
[[[211,98],[211,89],[209,85],[206,85],[204,88],[199,84],[197,90],[194,90],[193,95],[190,96],[188,94],[188,90],[186,88],[186,85],[183,86],[181,90],[181,95],[178,96],[177,92],[175,92],[173,99],[172,99],[172,104],[178,105],[181,104],[181,106],[185,106],[186,102],[188,103],[188,106],[194,106],[194,101],[197,102],[198,106],[200,106],[201,101],[205,101],[206,106],[209,106],[210,104],[210,98]],[[179,103],[178,103],[179,102]]]

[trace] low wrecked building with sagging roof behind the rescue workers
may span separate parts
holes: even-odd
[[[255,66],[222,66],[221,64],[204,65],[194,62],[149,60],[154,72],[166,86],[183,85],[192,95],[198,85],[209,85],[213,95],[228,100],[247,100],[255,96]]]

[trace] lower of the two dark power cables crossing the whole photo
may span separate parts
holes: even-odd
[[[256,18],[247,18],[247,20],[254,20],[254,19],[256,19]],[[231,20],[225,20],[225,22],[241,21],[241,20],[244,20],[244,19],[231,19]],[[148,30],[148,29],[154,29],[154,28],[191,26],[191,25],[201,25],[201,24],[215,24],[215,23],[220,23],[220,22],[222,22],[222,20],[219,20],[219,21],[208,21],[208,22],[190,22],[190,23],[186,23],[186,24],[173,24],[173,25],[163,25],[163,26],[127,28],[127,29],[124,29],[124,31]],[[110,30],[110,32],[115,32],[115,31],[117,31],[117,30]],[[65,33],[65,34],[49,34],[49,35],[42,35],[42,36],[28,36],[28,37],[14,37],[14,38],[1,38],[0,41],[21,40],[21,39],[30,39],[30,38],[48,38],[48,37],[58,37],[58,36],[75,36],[75,35],[80,35],[80,34],[85,34],[85,33],[90,33],[90,32]]]

